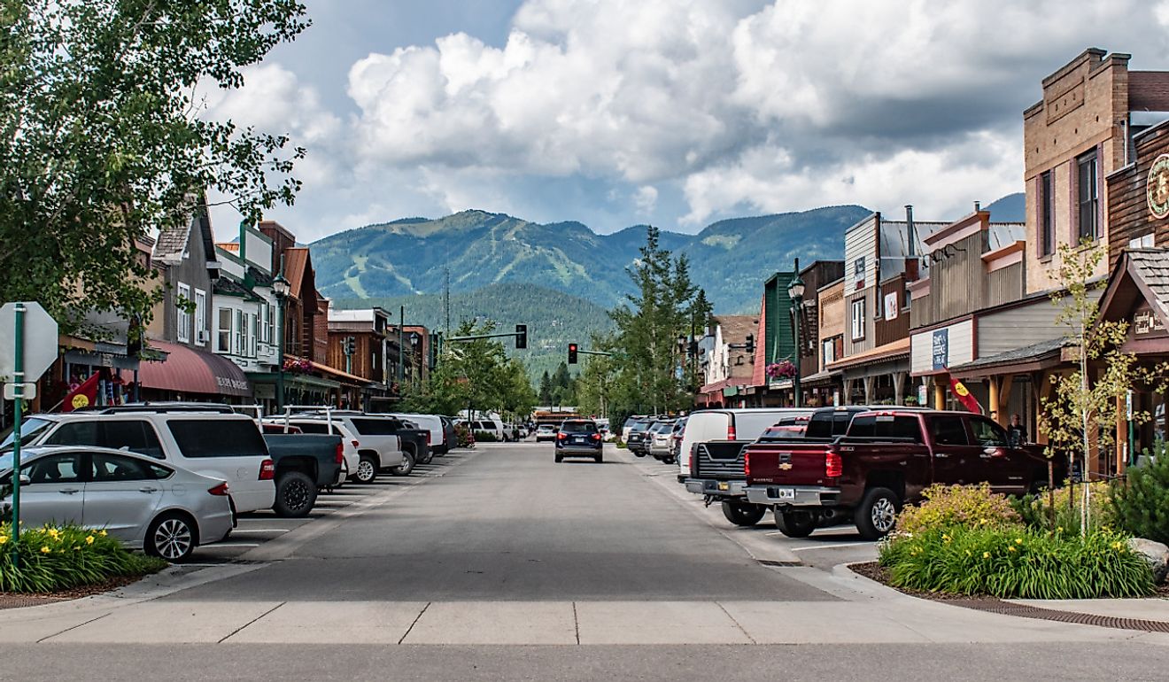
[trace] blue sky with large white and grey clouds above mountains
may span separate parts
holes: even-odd
[[[1169,0],[306,5],[206,111],[307,149],[267,215],[303,242],[468,208],[602,234],[841,204],[948,220],[1023,190],[1022,112],[1085,48],[1169,69]]]

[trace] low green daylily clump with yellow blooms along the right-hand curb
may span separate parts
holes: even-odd
[[[897,587],[1019,599],[1151,594],[1153,571],[1108,530],[1085,537],[1028,529],[933,528],[892,538],[880,564]]]

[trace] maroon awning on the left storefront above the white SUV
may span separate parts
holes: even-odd
[[[251,384],[243,370],[227,358],[165,342],[151,342],[151,347],[166,352],[167,357],[161,363],[144,361],[138,366],[138,381],[143,388],[203,395],[251,395]]]

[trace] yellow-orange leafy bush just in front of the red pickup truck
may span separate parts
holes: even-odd
[[[977,485],[931,485],[916,507],[906,507],[897,517],[898,533],[920,533],[935,528],[1011,528],[1021,523],[1010,501]]]

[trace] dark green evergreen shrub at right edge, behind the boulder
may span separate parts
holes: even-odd
[[[1128,470],[1114,483],[1111,511],[1118,528],[1136,537],[1169,544],[1169,448],[1160,441],[1153,461]],[[1148,455],[1148,450],[1146,450]]]

